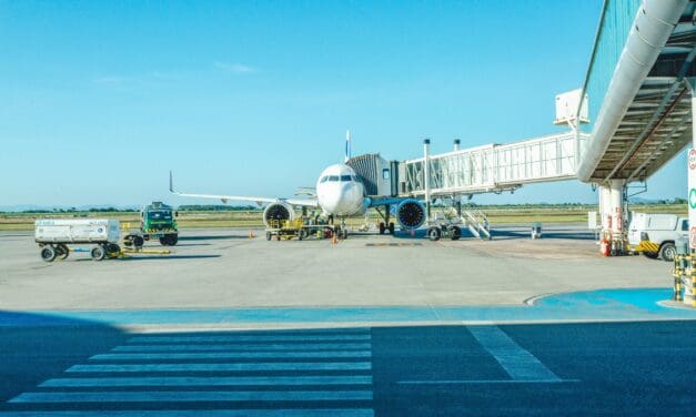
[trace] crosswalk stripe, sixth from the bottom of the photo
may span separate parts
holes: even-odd
[[[330,349],[370,349],[370,343],[324,343],[324,344],[269,344],[269,345],[125,345],[111,352],[185,352],[185,350],[330,350]]]

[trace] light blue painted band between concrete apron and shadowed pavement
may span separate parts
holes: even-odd
[[[389,322],[544,322],[696,319],[696,309],[658,305],[670,288],[601,289],[541,298],[533,306],[443,307],[288,307],[224,309],[153,309],[32,312],[3,314],[0,326],[61,325],[84,321],[108,325],[173,325],[248,323],[389,323]],[[311,333],[310,333],[311,334]]]

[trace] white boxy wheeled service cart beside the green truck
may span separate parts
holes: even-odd
[[[94,244],[90,251],[94,261],[120,253],[121,238],[118,220],[105,218],[41,218],[34,222],[34,241],[41,248],[41,258],[53,262],[70,254],[70,244]]]

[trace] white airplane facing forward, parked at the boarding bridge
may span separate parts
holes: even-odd
[[[311,199],[274,199],[241,195],[218,195],[218,194],[191,194],[174,191],[172,173],[169,176],[169,191],[183,197],[215,199],[223,203],[229,201],[254,202],[266,204],[263,211],[263,223],[269,226],[271,220],[294,220],[295,207],[321,208],[322,216],[333,224],[334,217],[341,222],[336,227],[336,233],[342,237],[347,237],[345,230],[345,218],[353,215],[362,215],[370,207],[377,207],[384,222],[380,223],[380,234],[389,231],[394,233],[394,223],[390,222],[392,212],[404,230],[414,230],[425,222],[425,206],[418,200],[412,197],[385,197],[366,195],[365,186],[355,171],[346,163],[350,160],[350,131],[346,132],[345,162],[326,167],[319,175],[316,191]],[[384,207],[384,212],[380,211]],[[392,210],[394,207],[394,210]]]

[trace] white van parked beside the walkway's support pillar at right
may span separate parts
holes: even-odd
[[[688,218],[676,214],[633,213],[628,244],[638,247],[645,256],[674,261],[677,254],[674,243],[679,237],[688,240]]]

